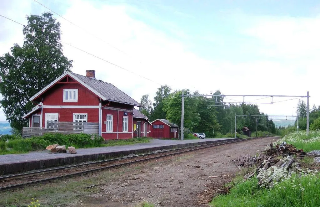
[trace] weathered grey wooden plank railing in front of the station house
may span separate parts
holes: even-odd
[[[42,136],[45,133],[61,134],[99,134],[99,123],[96,122],[68,122],[68,121],[47,121],[46,128],[23,127],[22,137]]]

